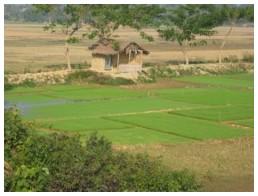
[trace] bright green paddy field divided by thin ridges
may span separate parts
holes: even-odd
[[[97,131],[114,144],[239,138],[254,134],[253,79],[252,74],[186,76],[175,80],[191,87],[140,90],[79,84],[19,87],[5,92],[5,104],[20,108],[41,134],[88,137]]]

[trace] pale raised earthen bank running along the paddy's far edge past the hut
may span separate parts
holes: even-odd
[[[209,75],[209,74],[221,74],[228,72],[241,72],[253,73],[254,66],[252,63],[224,63],[224,64],[194,64],[194,65],[170,65],[167,68],[177,72],[180,76],[180,72],[189,72],[193,75]],[[148,71],[150,68],[144,68],[144,71]],[[85,69],[88,70],[88,69]],[[32,80],[40,84],[57,84],[65,83],[65,77],[73,72],[83,70],[60,70],[60,71],[48,71],[40,73],[25,73],[25,74],[5,74],[7,82],[10,84],[20,84],[26,80]],[[104,74],[111,75],[112,77],[124,77],[128,79],[136,80],[137,73],[119,73],[119,72],[103,72]]]

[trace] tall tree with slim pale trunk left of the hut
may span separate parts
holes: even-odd
[[[35,5],[35,8],[44,13],[51,13],[56,9],[62,9],[62,17],[49,20],[48,24],[44,26],[44,30],[51,31],[52,33],[60,31],[64,36],[65,42],[65,57],[68,70],[71,70],[70,59],[70,45],[79,41],[78,37],[75,37],[75,33],[82,28],[83,17],[87,12],[86,5]]]

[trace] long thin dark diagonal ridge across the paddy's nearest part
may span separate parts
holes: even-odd
[[[136,127],[139,127],[139,128],[144,128],[144,129],[150,130],[150,131],[165,133],[165,134],[169,134],[169,135],[175,135],[175,136],[178,136],[178,137],[183,137],[183,138],[196,140],[196,141],[203,141],[203,139],[200,139],[200,138],[185,136],[185,135],[181,135],[181,134],[178,134],[178,133],[175,133],[175,132],[164,131],[164,130],[156,129],[156,128],[154,129],[154,128],[146,127],[146,126],[143,126],[143,125],[139,125],[138,123],[132,123],[132,122],[127,122],[127,121],[123,121],[123,120],[112,119],[112,118],[109,118],[109,117],[102,117],[102,118],[106,119],[106,120],[113,121],[113,122],[120,122],[120,123],[124,123],[124,124],[128,124],[128,125],[133,125],[133,126],[136,126]]]

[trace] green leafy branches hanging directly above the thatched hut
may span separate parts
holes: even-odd
[[[129,26],[136,29],[143,39],[153,41],[153,37],[142,29],[153,25],[155,18],[163,11],[158,5],[95,5],[91,7],[90,30],[83,36],[113,41],[114,32],[120,26]],[[115,49],[119,49],[117,42],[113,44]]]

